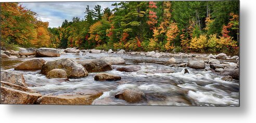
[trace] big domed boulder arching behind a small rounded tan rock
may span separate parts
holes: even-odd
[[[48,61],[43,64],[41,74],[46,75],[50,70],[62,69],[67,72],[68,78],[88,76],[86,69],[71,59]]]

